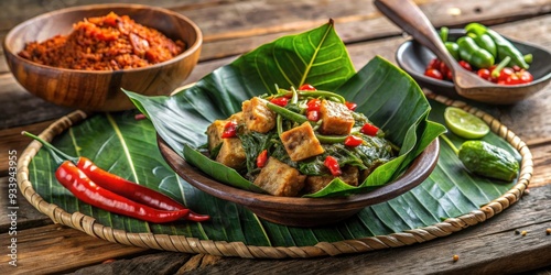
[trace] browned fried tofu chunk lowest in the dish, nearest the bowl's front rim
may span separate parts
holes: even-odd
[[[270,156],[255,185],[273,196],[294,197],[304,187],[305,178],[298,169]]]

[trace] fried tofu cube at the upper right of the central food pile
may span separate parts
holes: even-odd
[[[324,134],[349,134],[354,127],[352,111],[345,105],[331,100],[322,100],[320,119],[323,120],[320,132]]]

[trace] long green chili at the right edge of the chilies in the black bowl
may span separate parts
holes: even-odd
[[[496,31],[479,23],[471,23],[466,25],[465,31],[467,31],[468,33],[475,33],[477,35],[482,35],[484,33],[488,34],[496,43],[497,56],[499,59],[504,59],[506,56],[510,56],[511,65],[517,65],[523,69],[528,69],[528,67],[530,67],[525,61],[525,56],[522,55],[522,53],[520,53],[520,51],[515,47],[512,43],[510,43],[507,38],[501,36]]]

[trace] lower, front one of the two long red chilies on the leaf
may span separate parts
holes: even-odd
[[[176,211],[159,210],[109,191],[91,182],[71,161],[65,161],[60,165],[55,172],[55,177],[79,200],[114,213],[154,223],[172,222],[184,219],[190,215],[188,209]]]

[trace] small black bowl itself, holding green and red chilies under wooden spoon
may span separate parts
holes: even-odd
[[[463,29],[451,29],[450,41],[455,41],[465,35]],[[532,44],[520,43],[508,38],[521,53],[533,55],[533,62],[528,69],[533,75],[533,81],[526,86],[544,87],[551,80],[551,53]],[[415,40],[402,43],[396,52],[398,66],[406,70],[421,87],[453,99],[464,99],[455,91],[454,84],[447,80],[439,80],[424,75],[429,62],[436,56]],[[520,87],[519,87],[520,88]],[[504,95],[507,97],[507,95]]]

